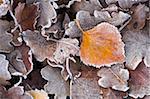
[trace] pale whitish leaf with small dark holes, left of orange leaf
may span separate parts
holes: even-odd
[[[75,56],[79,53],[79,41],[77,39],[62,38],[58,43],[53,54],[56,63],[63,64],[71,55]]]

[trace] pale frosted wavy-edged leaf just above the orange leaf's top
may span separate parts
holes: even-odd
[[[101,21],[106,21],[115,26],[122,25],[126,20],[128,20],[131,16],[122,11],[112,12],[109,14],[107,11],[94,11],[94,16]]]

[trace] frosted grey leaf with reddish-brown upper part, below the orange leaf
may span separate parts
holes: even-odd
[[[98,77],[96,73],[97,69],[82,65],[81,76],[71,81],[72,99],[103,99],[101,88],[97,83]]]

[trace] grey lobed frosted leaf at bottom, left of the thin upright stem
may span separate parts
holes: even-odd
[[[46,66],[41,70],[41,75],[48,83],[44,86],[48,94],[55,94],[55,99],[66,99],[69,96],[69,83],[66,82],[61,74],[60,69]]]

